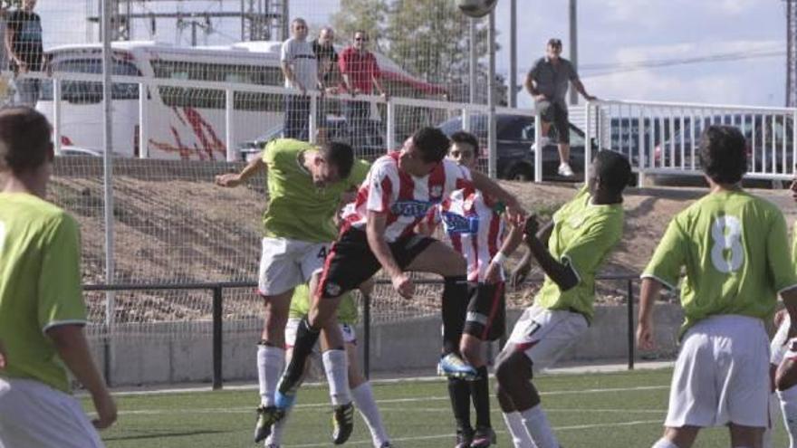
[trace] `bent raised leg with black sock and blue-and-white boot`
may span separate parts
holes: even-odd
[[[399,265],[411,272],[430,272],[443,276],[443,298],[441,313],[443,315],[443,357],[438,370],[448,377],[475,378],[475,369],[467,365],[459,354],[459,345],[468,304],[467,264],[461,254],[456,253],[447,244],[433,238],[414,235],[413,238],[426,246],[414,254],[411,261],[401,262],[403,247],[419,247],[418,242],[399,241],[391,245]]]

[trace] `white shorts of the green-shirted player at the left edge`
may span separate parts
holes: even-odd
[[[100,434],[68,394],[39,381],[0,378],[0,447],[101,448]]]

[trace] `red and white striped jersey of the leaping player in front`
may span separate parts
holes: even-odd
[[[388,214],[385,240],[412,234],[434,205],[456,190],[472,187],[470,171],[443,159],[427,176],[416,177],[399,169],[399,152],[379,157],[370,167],[357,198],[343,209],[345,226],[365,230],[368,212]]]

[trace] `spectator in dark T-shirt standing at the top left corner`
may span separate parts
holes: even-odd
[[[42,19],[34,13],[35,6],[36,0],[24,0],[21,10],[12,11],[6,17],[5,51],[15,75],[44,68]],[[16,81],[16,103],[34,107],[40,91],[39,80],[23,77]]]

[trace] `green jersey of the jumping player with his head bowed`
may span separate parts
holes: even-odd
[[[337,235],[332,217],[341,195],[356,189],[368,176],[369,165],[356,160],[349,178],[319,188],[302,165],[302,154],[314,150],[310,143],[279,138],[266,144],[263,161],[268,168],[269,204],[263,214],[265,236],[311,243],[330,242]]]

